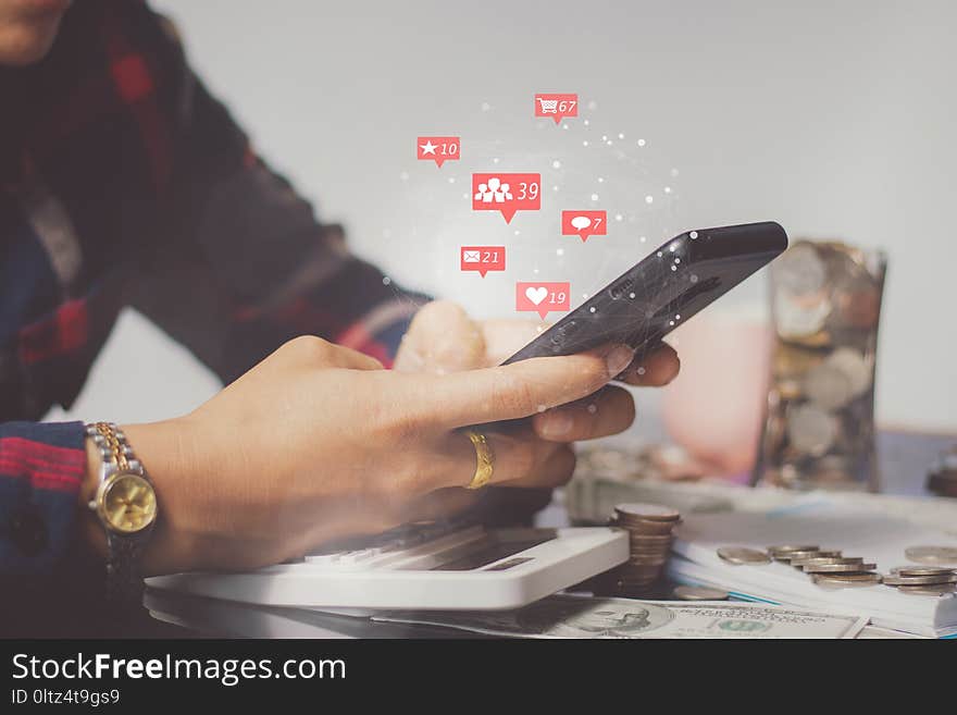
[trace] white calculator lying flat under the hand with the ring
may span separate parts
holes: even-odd
[[[355,613],[380,608],[518,608],[627,560],[614,528],[405,527],[297,563],[249,572],[147,579],[152,589],[269,606]]]

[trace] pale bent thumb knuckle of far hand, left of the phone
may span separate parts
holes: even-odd
[[[400,372],[458,372],[485,367],[482,330],[461,306],[434,300],[419,309],[396,356]]]

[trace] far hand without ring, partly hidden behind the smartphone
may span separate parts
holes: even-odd
[[[476,322],[458,305],[436,300],[415,315],[395,368],[444,374],[499,365],[546,328],[529,320]],[[674,349],[662,344],[642,363],[630,363],[619,379],[631,385],[661,386],[678,375],[680,367]],[[543,440],[576,442],[622,432],[634,417],[631,393],[609,385],[586,399],[535,415],[532,427]]]

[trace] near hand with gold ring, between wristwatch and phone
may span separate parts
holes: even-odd
[[[412,374],[316,337],[291,341],[190,415],[123,427],[159,498],[145,569],[254,568],[445,510],[475,471],[459,428],[592,395],[631,359],[614,346]],[[550,486],[571,473],[563,445],[531,427],[489,441],[494,484]],[[87,526],[102,550],[102,529]]]

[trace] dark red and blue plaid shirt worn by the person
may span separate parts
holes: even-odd
[[[49,572],[84,436],[37,420],[74,400],[122,308],[228,382],[302,333],[388,366],[423,297],[256,157],[145,3],[75,3],[47,58],[0,67],[0,575]]]

